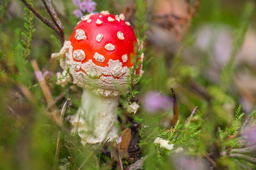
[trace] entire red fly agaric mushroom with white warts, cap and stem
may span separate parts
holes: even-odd
[[[71,120],[72,132],[78,131],[81,142],[97,143],[118,136],[115,126],[119,96],[133,67],[135,44],[139,43],[124,14],[108,11],[81,17],[60,53],[61,67],[70,68],[73,83],[83,88],[81,105]],[[143,60],[143,54],[138,60]],[[142,64],[135,70],[141,75]]]

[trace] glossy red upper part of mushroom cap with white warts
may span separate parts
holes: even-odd
[[[131,54],[135,56],[137,39],[122,14],[111,15],[104,11],[101,14],[85,15],[74,29],[70,41],[73,53],[83,50],[86,56],[83,60],[76,60],[73,56],[76,62],[85,63],[92,59],[97,66],[105,67],[112,59],[119,60],[123,67],[133,66]]]

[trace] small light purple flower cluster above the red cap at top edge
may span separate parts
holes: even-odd
[[[83,16],[83,12],[92,13],[96,10],[97,3],[92,0],[72,0],[73,4],[79,7],[73,11],[73,14],[79,18]]]

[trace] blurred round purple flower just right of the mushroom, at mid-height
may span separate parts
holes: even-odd
[[[144,97],[143,109],[148,113],[155,113],[158,111],[167,111],[172,107],[172,98],[159,94],[159,92],[151,91],[146,93]]]

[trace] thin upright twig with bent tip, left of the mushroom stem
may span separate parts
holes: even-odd
[[[70,99],[68,98],[67,101],[64,103],[62,109],[61,109],[61,121],[63,121],[63,117],[64,117],[64,113],[66,111],[67,105],[70,102]],[[58,135],[57,135],[57,144],[56,144],[56,152],[55,152],[55,156],[54,156],[54,163],[52,165],[52,170],[56,169],[56,166],[58,165],[58,154],[60,152],[60,148],[61,148],[61,130],[58,130]]]

